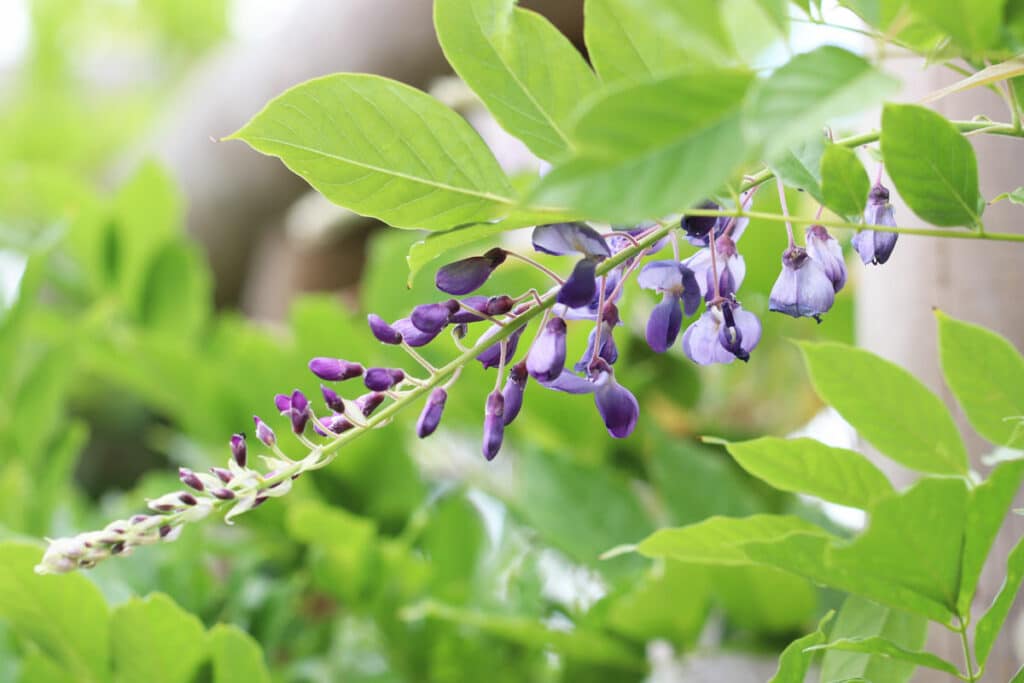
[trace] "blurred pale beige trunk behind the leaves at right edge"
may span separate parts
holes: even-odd
[[[924,69],[920,59],[890,59],[890,71],[903,79],[902,99],[916,101],[927,93],[955,82],[959,77],[938,67]],[[952,95],[932,104],[952,119],[970,119],[978,114],[1009,121],[1006,104],[993,92],[978,88]],[[992,136],[972,136],[981,173],[981,191],[986,198],[1014,189],[1021,184],[1020,141]],[[886,180],[888,183],[888,180]],[[888,183],[891,187],[891,183]],[[901,226],[924,223],[893,194],[896,221]],[[1014,231],[1021,219],[1019,207],[1000,202],[985,212],[985,225],[992,230]],[[1024,306],[1016,296],[1024,291],[1024,248],[993,242],[940,240],[901,236],[892,258],[883,266],[869,266],[859,273],[857,336],[866,348],[908,369],[938,393],[956,416],[971,453],[972,467],[986,469],[980,457],[991,444],[971,429],[942,381],[939,367],[936,323],[933,307],[954,317],[977,323],[1006,335],[1019,349],[1024,348]],[[860,270],[859,266],[854,270]],[[880,415],[880,420],[887,419]],[[880,459],[897,485],[905,485],[912,475]],[[1024,504],[1018,493],[1015,506]],[[973,621],[987,608],[1001,585],[1006,559],[1014,543],[1024,535],[1024,517],[1010,515],[985,567],[976,598]],[[1010,680],[1024,661],[1024,628],[1021,605],[1014,609],[986,667],[985,681]],[[945,629],[935,629],[930,646],[946,659],[963,666],[959,639]],[[945,674],[923,672],[914,681],[947,681]]]

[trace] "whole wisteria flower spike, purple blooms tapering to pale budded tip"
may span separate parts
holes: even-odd
[[[37,571],[88,568],[138,546],[172,541],[185,523],[214,509],[227,509],[225,521],[231,523],[269,498],[288,493],[300,475],[328,465],[347,439],[385,425],[394,413],[423,397],[416,433],[428,437],[440,425],[452,385],[473,359],[484,370],[496,371],[495,387],[483,405],[481,452],[487,460],[501,450],[505,429],[519,415],[530,383],[540,389],[592,395],[608,433],[615,438],[629,436],[640,407],[614,371],[618,360],[614,335],[622,325],[620,306],[626,283],[636,276],[641,289],[660,295],[645,333],[654,351],[669,351],[681,337],[683,354],[698,365],[749,360],[761,339],[761,323],[739,299],[745,275],[739,243],[756,190],[757,186],[749,189],[733,209],[706,202],[679,220],[603,233],[582,222],[537,226],[532,232],[536,251],[575,259],[564,279],[535,259],[503,248],[442,266],[435,285],[452,298],[420,304],[408,316],[390,323],[377,314],[368,318],[374,337],[402,348],[419,367],[417,372],[315,357],[309,370],[324,382],[323,409],[299,390],[274,396],[274,409],[287,418],[292,435],[306,450],[302,459],[286,455],[267,423],[254,417],[256,441],[267,452],[259,458],[262,468],[253,464],[246,436],[234,434],[226,468],[214,467],[209,473],[181,469],[184,488],[148,501],[150,514],[51,541]],[[784,196],[783,212],[787,213]],[[889,193],[879,183],[871,189],[864,219],[869,225],[894,225]],[[786,227],[788,246],[769,309],[820,322],[846,283],[843,250],[821,225],[806,229],[803,247],[796,244],[792,226]],[[896,237],[864,229],[853,244],[864,263],[884,263]],[[680,239],[697,251],[681,258]],[[671,258],[645,261],[670,246]],[[475,294],[509,258],[536,267],[553,286],[543,294],[536,289],[517,296]],[[703,311],[696,315],[701,303]],[[683,330],[684,321],[693,316]],[[535,317],[539,324],[534,337],[520,352],[524,332]],[[588,343],[583,355],[570,365],[566,338],[578,327],[588,329]],[[475,342],[468,345],[466,339],[475,329],[479,329]],[[462,354],[435,368],[417,349],[445,331]],[[356,391],[343,391],[356,385],[360,386]]]

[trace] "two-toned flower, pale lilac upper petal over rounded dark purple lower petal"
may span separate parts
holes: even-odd
[[[693,271],[678,261],[652,261],[637,278],[643,289],[660,292],[662,303],[647,321],[647,344],[664,353],[672,346],[683,325],[683,313],[692,315],[700,305],[700,288]]]

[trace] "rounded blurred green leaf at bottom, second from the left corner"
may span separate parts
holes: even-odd
[[[123,683],[189,683],[207,655],[202,622],[160,593],[115,609],[111,642]]]

